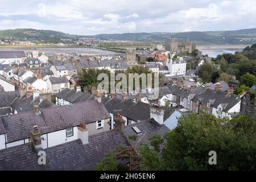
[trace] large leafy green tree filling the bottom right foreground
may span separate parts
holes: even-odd
[[[231,121],[208,113],[183,115],[166,136],[164,169],[255,170],[255,123],[246,115]],[[217,165],[209,165],[209,151],[217,152]]]

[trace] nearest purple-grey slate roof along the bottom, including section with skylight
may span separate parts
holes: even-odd
[[[1,118],[0,118],[1,119]],[[131,128],[137,126],[142,131],[136,134]],[[0,125],[1,131],[1,125]],[[54,147],[46,148],[46,165],[38,165],[38,155],[31,143],[0,150],[0,170],[94,170],[105,154],[117,146],[128,146],[138,142],[149,143],[148,139],[159,134],[163,136],[169,131],[165,125],[159,125],[154,119],[147,119],[133,125],[125,126],[123,133],[109,130],[89,136],[89,143],[83,145],[80,139]],[[128,139],[129,135],[137,135],[136,140]]]

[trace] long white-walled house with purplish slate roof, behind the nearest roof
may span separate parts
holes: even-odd
[[[34,131],[40,131],[40,147],[53,147],[79,139],[81,122],[86,124],[87,135],[93,135],[110,130],[109,120],[108,111],[96,100],[47,109],[35,105],[33,111],[0,118],[0,150],[30,142]]]

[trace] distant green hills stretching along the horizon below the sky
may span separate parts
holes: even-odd
[[[152,33],[125,33],[125,34],[98,34],[90,36],[71,35],[52,30],[35,30],[30,28],[0,30],[0,39],[38,39],[60,40],[61,38],[77,39],[81,37],[101,40],[130,40],[143,42],[164,42],[170,38],[189,39],[200,44],[254,44],[256,42],[256,28],[234,31],[207,31],[207,32],[152,32]]]

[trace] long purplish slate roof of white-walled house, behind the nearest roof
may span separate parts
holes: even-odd
[[[32,126],[38,125],[41,133],[51,133],[68,127],[78,126],[81,121],[92,123],[110,118],[103,104],[98,101],[86,101],[73,105],[64,105],[2,117],[6,129],[7,142],[29,138]]]

